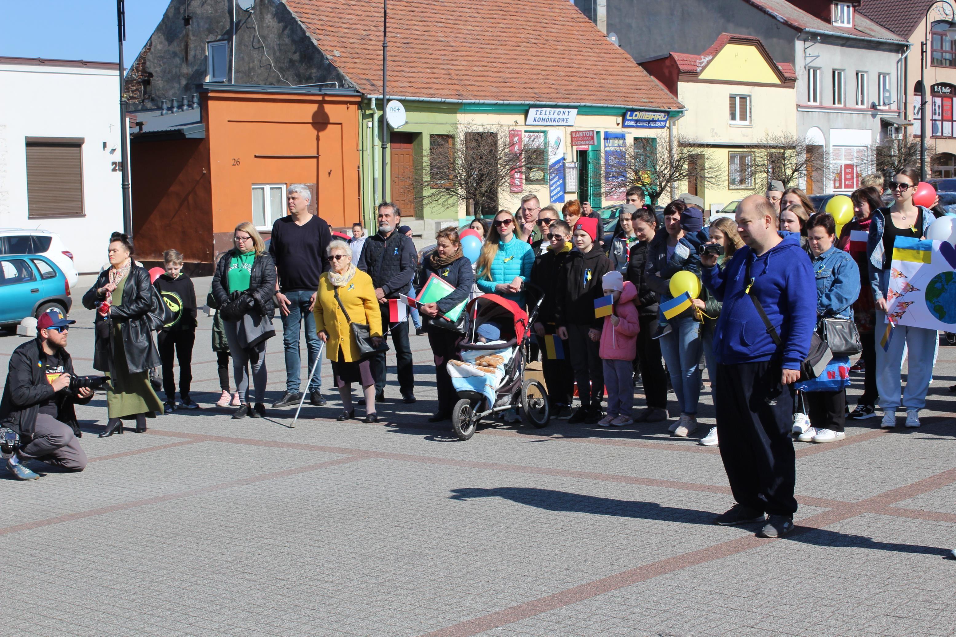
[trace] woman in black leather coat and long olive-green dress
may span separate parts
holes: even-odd
[[[93,368],[106,372],[109,421],[99,437],[122,434],[122,419],[136,418],[136,432],[146,431],[146,418],[163,413],[163,401],[149,384],[149,370],[161,363],[146,321],[152,307],[149,272],[133,262],[133,240],[114,232],[108,248],[110,266],[83,295],[83,307],[96,309]]]

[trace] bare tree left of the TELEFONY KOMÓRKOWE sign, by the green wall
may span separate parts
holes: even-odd
[[[412,182],[418,202],[464,202],[467,214],[497,212],[498,197],[512,179],[520,180],[531,162],[544,160],[546,149],[539,144],[515,143],[505,126],[459,124],[453,135],[432,135],[429,150],[416,158],[421,170]]]

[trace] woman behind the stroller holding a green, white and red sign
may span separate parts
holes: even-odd
[[[447,363],[452,359],[461,360],[458,343],[464,334],[455,329],[455,323],[449,321],[446,314],[456,308],[461,312],[458,306],[467,301],[474,284],[471,262],[462,254],[458,230],[453,227],[443,228],[435,235],[435,239],[438,245],[424,262],[426,282],[422,298],[425,298],[424,294],[430,287],[431,276],[441,279],[453,289],[450,292],[443,290],[444,295],[438,301],[425,303],[419,309],[425,333],[428,334],[428,345],[435,356],[435,385],[438,388],[438,413],[428,418],[428,422],[441,422],[450,418],[451,409],[458,400],[458,394],[451,385],[451,376],[448,375]]]

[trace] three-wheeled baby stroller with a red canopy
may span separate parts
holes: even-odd
[[[460,440],[467,440],[474,435],[478,421],[482,418],[511,409],[520,408],[525,419],[535,427],[548,424],[551,414],[544,385],[537,379],[524,377],[531,347],[529,332],[540,306],[539,299],[529,317],[516,303],[497,294],[482,294],[468,303],[465,311],[470,326],[460,345],[462,358],[473,360],[487,353],[506,360],[494,372],[482,375],[472,387],[467,387],[466,383],[456,384],[459,400],[451,412],[451,426]],[[479,342],[478,329],[488,323],[500,330],[499,339],[492,343]],[[467,368],[457,361],[450,361],[449,372],[452,372],[453,366],[459,370]],[[480,388],[482,382],[486,383],[484,388]]]

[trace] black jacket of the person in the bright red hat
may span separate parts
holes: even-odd
[[[595,318],[595,301],[604,296],[601,278],[613,269],[611,260],[597,244],[587,254],[576,248],[569,252],[558,275],[555,322],[601,329],[604,318]]]

